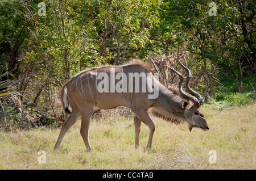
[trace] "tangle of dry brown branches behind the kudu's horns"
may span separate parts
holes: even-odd
[[[195,61],[196,58],[197,56],[193,56],[192,54],[191,58],[186,60],[185,56],[181,56],[179,53],[174,52],[173,56],[166,56],[165,54],[160,56],[148,56],[146,57],[146,61],[155,68],[155,72],[159,74],[159,81],[166,87],[170,85],[179,85],[179,78],[169,70],[169,66],[175,68],[175,70],[183,75],[186,75],[187,73],[181,68],[179,63],[181,62],[183,65],[187,66],[193,73],[190,85],[191,88],[204,95],[205,103],[209,104],[210,96],[216,91],[213,82],[216,82],[217,84],[220,84],[220,82],[209,70],[198,69]]]

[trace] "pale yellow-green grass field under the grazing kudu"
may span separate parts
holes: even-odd
[[[186,124],[152,117],[156,131],[150,151],[144,150],[146,125],[135,150],[133,119],[122,116],[92,120],[93,153],[86,151],[80,136],[81,121],[66,134],[59,151],[52,149],[60,128],[0,132],[0,169],[256,169],[255,106],[220,110],[204,105],[209,131],[189,132]],[[46,163],[38,162],[43,156],[39,150],[45,151]],[[209,163],[213,158],[216,163]]]

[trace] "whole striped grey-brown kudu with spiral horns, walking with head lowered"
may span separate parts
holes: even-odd
[[[54,149],[60,147],[68,129],[81,117],[80,133],[86,148],[89,151],[91,150],[88,132],[94,106],[99,109],[118,106],[131,108],[131,111],[134,112],[135,148],[139,146],[142,122],[150,129],[146,148],[151,148],[155,125],[148,116],[147,112],[150,111],[153,115],[174,123],[187,121],[190,131],[193,127],[208,130],[207,121],[200,111],[203,97],[189,87],[191,72],[184,65],[182,66],[188,72],[185,85],[191,95],[183,91],[183,76],[179,72],[170,68],[180,77],[179,93],[175,94],[175,91],[168,90],[158,81],[157,77],[155,78],[152,75],[154,69],[139,60],[131,61],[129,64],[122,66],[102,66],[81,71],[65,83],[60,91],[63,108],[70,115],[61,128]],[[135,75],[139,75],[139,77]],[[136,81],[139,84],[135,85]],[[142,91],[145,82],[148,90],[145,91],[144,89]],[[102,88],[103,85],[104,88]],[[118,87],[121,90],[118,90]],[[140,88],[139,91],[138,88]],[[158,93],[157,96],[152,96],[154,91]]]

